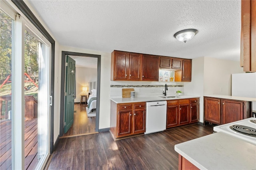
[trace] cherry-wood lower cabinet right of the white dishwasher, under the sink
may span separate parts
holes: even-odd
[[[199,98],[167,101],[166,128],[199,121]]]

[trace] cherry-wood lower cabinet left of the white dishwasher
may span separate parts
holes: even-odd
[[[116,104],[111,101],[110,132],[114,138],[144,133],[146,102]]]

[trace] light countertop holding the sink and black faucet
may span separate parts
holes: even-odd
[[[159,95],[161,96],[161,95]],[[110,100],[115,103],[133,103],[133,102],[148,102],[148,101],[167,101],[167,100],[177,100],[177,99],[190,99],[190,98],[199,98],[200,96],[192,96],[192,95],[182,95],[177,98],[162,98],[159,96],[150,96],[150,97],[135,97],[135,99],[128,98],[111,98]],[[169,96],[169,95],[168,95]],[[173,96],[173,95],[172,95]]]

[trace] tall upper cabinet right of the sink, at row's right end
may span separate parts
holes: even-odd
[[[183,59],[182,70],[175,71],[175,81],[191,81],[192,60]]]

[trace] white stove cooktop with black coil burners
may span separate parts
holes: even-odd
[[[246,134],[236,132],[236,131],[234,131],[230,128],[230,126],[232,126],[232,125],[243,125],[243,126],[255,128],[255,130],[256,130],[256,123],[252,123],[250,120],[255,120],[256,121],[256,118],[251,117],[251,118],[248,118],[248,119],[243,119],[241,121],[236,121],[236,122],[216,126],[216,127],[213,128],[213,130],[215,132],[225,132],[227,134],[231,134],[233,136],[236,136],[238,138],[241,138],[243,140],[246,140],[246,141],[256,145],[256,137],[255,136],[248,136]]]

